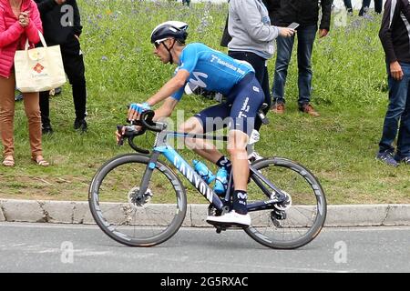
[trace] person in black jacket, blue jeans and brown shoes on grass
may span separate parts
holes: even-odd
[[[292,22],[300,24],[296,29],[298,35],[298,87],[299,110],[313,116],[319,116],[319,113],[311,105],[312,89],[312,51],[313,42],[318,28],[319,9],[318,0],[281,0],[279,9],[279,19],[275,21],[277,25],[287,26]],[[322,0],[322,19],[319,26],[319,37],[326,36],[330,29],[331,0]],[[273,106],[272,112],[283,114],[285,110],[284,87],[288,66],[291,61],[294,35],[292,37],[279,36],[276,39],[277,57],[275,64],[275,73],[273,77]]]

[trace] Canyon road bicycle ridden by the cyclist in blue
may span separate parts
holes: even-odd
[[[187,192],[176,171],[208,200],[208,215],[220,216],[232,207],[232,176],[226,194],[218,196],[169,145],[170,137],[222,143],[228,137],[167,131],[167,124],[154,122],[153,116],[153,111],[145,111],[135,123],[138,129],[135,125],[125,126],[123,137],[138,154],[111,158],[97,170],[89,186],[88,203],[97,225],[127,246],[159,245],[182,226],[187,213]],[[134,143],[136,136],[147,131],[156,133],[151,152]],[[263,246],[293,249],[318,236],[326,217],[326,199],[318,179],[306,167],[283,157],[265,157],[250,162],[249,168],[247,208],[251,226],[243,230],[251,238]],[[214,227],[217,233],[234,228]]]

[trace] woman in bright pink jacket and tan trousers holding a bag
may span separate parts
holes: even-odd
[[[40,41],[40,15],[32,0],[0,0],[0,129],[4,146],[3,166],[15,166],[15,51]],[[48,166],[41,146],[41,119],[38,93],[23,93],[31,156],[39,166]]]

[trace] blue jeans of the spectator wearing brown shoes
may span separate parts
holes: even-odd
[[[297,29],[298,37],[298,104],[308,104],[311,100],[312,90],[312,50],[317,25],[302,26]],[[275,74],[273,77],[272,95],[273,102],[284,103],[284,86],[288,75],[288,66],[291,61],[294,35],[292,37],[276,38],[277,57]]]

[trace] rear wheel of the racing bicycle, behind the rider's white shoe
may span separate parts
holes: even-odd
[[[272,217],[272,209],[250,212],[252,224],[245,232],[261,245],[272,248],[294,249],[310,243],[320,233],[327,212],[326,197],[318,179],[304,166],[282,157],[264,158],[251,165],[273,185],[289,193],[292,206],[284,210],[284,219]],[[261,188],[254,183],[250,187],[248,201],[255,197],[255,189],[259,189],[256,200],[266,200]],[[309,218],[312,222],[303,221]]]

